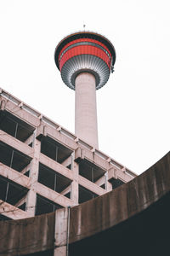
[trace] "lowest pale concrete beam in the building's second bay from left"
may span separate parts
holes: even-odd
[[[37,194],[42,195],[50,201],[54,201],[56,204],[62,207],[70,207],[74,205],[74,202],[65,197],[64,195],[60,195],[58,192],[53,189],[49,189],[41,183],[37,183]]]

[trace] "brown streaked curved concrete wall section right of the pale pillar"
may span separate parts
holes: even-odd
[[[170,153],[139,177],[71,208],[70,243],[93,236],[144,211],[170,191]]]

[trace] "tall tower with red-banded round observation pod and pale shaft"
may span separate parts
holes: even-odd
[[[76,32],[59,42],[55,63],[63,82],[76,90],[75,133],[98,148],[96,92],[113,72],[116,52],[111,42],[95,32]]]

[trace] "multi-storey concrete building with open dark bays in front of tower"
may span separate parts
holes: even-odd
[[[0,216],[28,218],[88,201],[136,175],[0,89]]]

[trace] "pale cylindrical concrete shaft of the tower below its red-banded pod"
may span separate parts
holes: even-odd
[[[75,84],[75,134],[98,148],[95,77],[91,73],[80,73]]]

